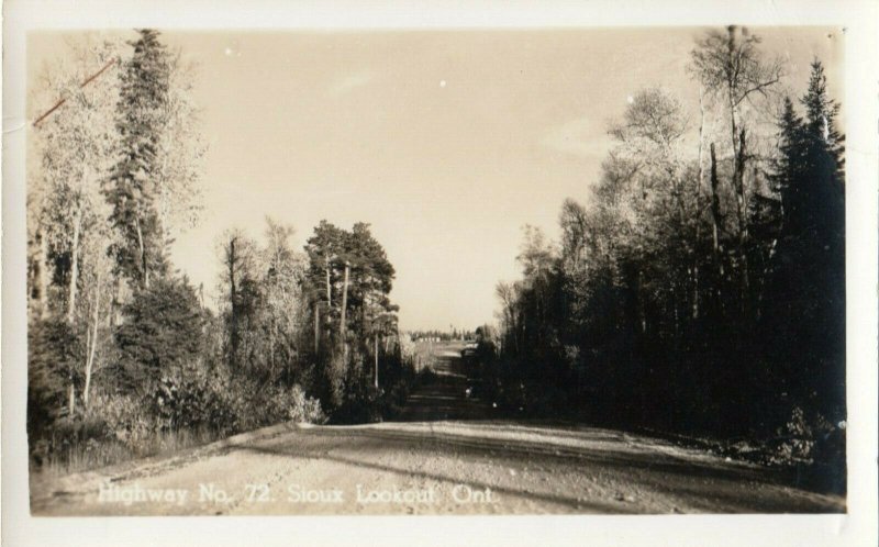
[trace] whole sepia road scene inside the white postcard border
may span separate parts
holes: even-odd
[[[31,514],[845,513],[844,38],[29,33]]]

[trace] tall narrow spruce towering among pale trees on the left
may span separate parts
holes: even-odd
[[[196,222],[201,159],[191,100],[193,68],[144,29],[120,74],[116,129],[121,143],[105,187],[111,220],[122,234],[114,256],[120,275],[142,288],[167,272],[171,226]]]

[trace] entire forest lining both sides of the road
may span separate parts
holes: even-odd
[[[210,191],[197,67],[154,30],[68,53],[30,98],[34,466],[392,420],[429,376],[416,342],[475,339],[476,393],[501,417],[724,439],[845,488],[845,139],[821,59],[793,89],[758,35],[700,32],[698,103],[633,93],[559,236],[523,228],[497,322],[401,333],[364,222],[299,243],[283,219],[230,227],[215,286],[192,283],[170,249]]]

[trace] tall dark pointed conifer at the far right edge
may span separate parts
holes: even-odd
[[[841,417],[845,405],[845,205],[838,105],[827,97],[821,63],[812,64],[801,99],[787,100],[779,121],[772,179],[782,222],[765,327],[779,391],[794,404]]]

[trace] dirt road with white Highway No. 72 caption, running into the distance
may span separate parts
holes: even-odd
[[[35,515],[839,512],[764,468],[581,426],[487,420],[457,347],[403,421],[279,425],[174,458],[32,480]]]

